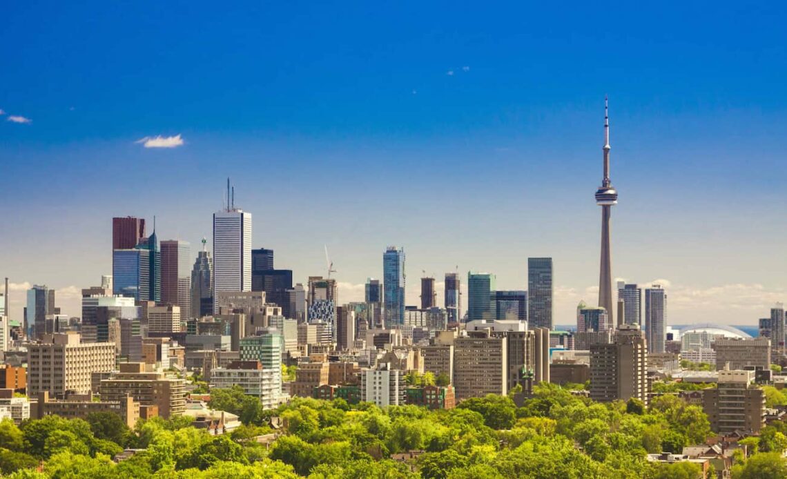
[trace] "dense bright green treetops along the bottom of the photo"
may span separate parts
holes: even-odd
[[[129,429],[116,415],[83,420],[56,416],[17,427],[0,422],[0,470],[6,477],[677,477],[700,476],[688,462],[655,465],[648,452],[680,452],[711,435],[699,407],[661,396],[649,407],[593,403],[554,385],[515,407],[504,396],[465,400],[449,411],[415,406],[381,409],[344,400],[296,399],[262,411],[237,389],[213,391],[212,407],[242,415],[244,426],[211,436],[187,419],[153,418]],[[258,401],[257,401],[258,403]],[[283,418],[282,436],[268,449],[255,437],[271,433],[268,417]],[[787,477],[779,454],[787,425],[748,438],[757,453],[737,457],[733,477]],[[118,464],[124,448],[139,449]],[[423,451],[410,462],[391,455]],[[41,466],[42,472],[35,468]],[[712,472],[712,471],[711,471]]]

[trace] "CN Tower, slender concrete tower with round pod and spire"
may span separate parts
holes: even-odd
[[[612,251],[609,241],[609,220],[613,204],[618,204],[618,192],[609,179],[609,114],[604,97],[604,179],[596,191],[596,204],[601,207],[601,271],[598,277],[598,305],[607,310],[607,324],[614,325],[612,309]]]

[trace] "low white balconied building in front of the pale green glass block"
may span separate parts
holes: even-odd
[[[239,385],[245,394],[259,398],[264,409],[278,406],[282,394],[281,361],[278,370],[265,368],[257,360],[235,361],[211,370],[211,388],[230,389],[234,385]]]

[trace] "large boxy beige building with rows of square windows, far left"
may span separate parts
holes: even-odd
[[[83,343],[79,333],[45,334],[28,347],[28,395],[89,392],[91,374],[115,369],[113,343]]]

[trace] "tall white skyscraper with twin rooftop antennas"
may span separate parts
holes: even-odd
[[[214,298],[220,291],[251,291],[251,213],[235,208],[229,185],[227,179],[227,208],[213,213]]]

